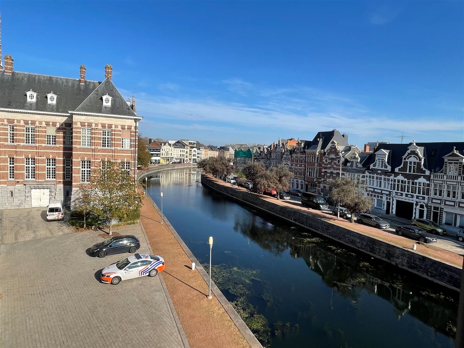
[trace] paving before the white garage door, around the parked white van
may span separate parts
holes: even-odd
[[[46,221],[47,208],[5,209],[0,211],[1,244],[36,238],[55,237],[74,230],[64,221]]]

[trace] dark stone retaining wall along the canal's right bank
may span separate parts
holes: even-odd
[[[261,211],[308,228],[312,232],[322,234],[325,237],[334,239],[337,242],[348,245],[359,251],[363,251],[375,258],[380,258],[406,271],[432,280],[435,283],[457,291],[460,289],[462,270],[456,266],[421,255],[410,249],[391,244],[361,232],[335,225],[329,221],[318,219],[316,216],[297,209],[263,200],[258,195],[251,194],[248,191],[222,185],[204,174],[201,174],[201,184],[203,187],[213,189],[214,191],[223,193],[230,198],[253,206]]]

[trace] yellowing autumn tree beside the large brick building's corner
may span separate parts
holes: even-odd
[[[112,234],[113,219],[126,219],[135,209],[142,206],[142,193],[137,191],[138,183],[119,162],[103,162],[94,171],[89,184],[92,192],[93,212],[103,219],[110,219]]]

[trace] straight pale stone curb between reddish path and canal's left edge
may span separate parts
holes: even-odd
[[[161,216],[161,210],[158,208],[158,206],[155,204],[155,202],[148,195],[147,195],[147,200],[150,201],[150,203],[155,207],[158,214],[160,214],[160,216]],[[180,238],[179,234],[174,229],[174,227],[171,225],[171,223],[168,221],[168,219],[166,219],[166,217],[164,215],[162,216],[162,219],[163,219],[164,223],[166,224],[166,226],[168,226],[171,233],[177,239],[177,242],[180,244],[180,246],[182,247],[184,252],[190,258],[190,260],[195,263],[195,268],[198,269],[198,272],[200,273],[201,277],[203,277],[203,280],[206,282],[206,284],[208,284],[208,282],[209,282],[208,273],[206,273],[205,269],[200,264],[200,262],[198,262],[197,258],[195,258],[192,251],[190,251],[190,249],[184,243],[182,238]],[[243,337],[245,338],[246,342],[248,342],[250,347],[251,348],[263,348],[261,343],[259,343],[258,339],[255,337],[255,335],[253,335],[251,330],[245,324],[242,317],[238,315],[238,313],[235,311],[235,309],[232,307],[232,305],[229,303],[229,301],[227,301],[226,297],[222,294],[221,290],[219,290],[219,288],[216,286],[216,284],[214,284],[213,280],[211,280],[211,292],[214,294],[214,296],[216,296],[219,303],[226,310],[226,313],[232,319],[232,322],[235,324],[237,329],[243,335]]]

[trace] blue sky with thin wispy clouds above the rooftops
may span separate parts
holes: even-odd
[[[461,1],[3,1],[14,70],[102,80],[141,132],[206,144],[464,141]]]

